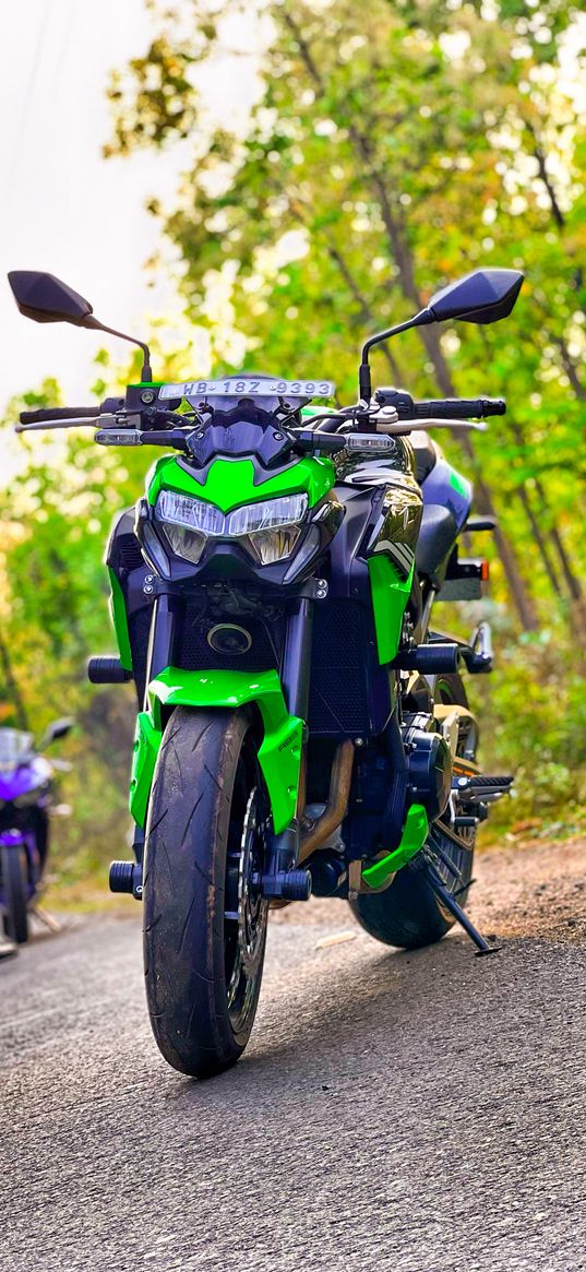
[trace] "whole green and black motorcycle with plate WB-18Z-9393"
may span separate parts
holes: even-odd
[[[31,318],[133,340],[53,276],[9,277]],[[491,633],[432,626],[436,602],[480,595],[486,562],[461,557],[460,536],[494,523],[470,516],[470,482],[428,430],[484,429],[505,402],[372,392],[370,352],[427,323],[505,318],[521,284],[475,270],[372,336],[352,406],[319,378],[156,382],[135,341],[123,398],[20,416],[167,452],[113,527],[118,656],[90,659],[89,678],[137,691],[135,860],[112,864],[111,888],[142,901],[151,1028],[181,1072],[244,1051],[271,907],[347,899],[405,949],[458,921],[494,951],[464,912],[477,827],[511,784],[478,764],[463,679],[491,670]]]

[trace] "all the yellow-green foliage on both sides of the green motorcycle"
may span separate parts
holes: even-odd
[[[111,85],[107,151],[179,141],[191,153],[175,198],[165,193],[163,205],[155,192],[150,202],[165,257],[170,242],[181,261],[191,324],[167,357],[170,378],[206,373],[207,351],[222,373],[240,364],[240,349],[248,368],[328,375],[352,401],[365,335],[479,262],[525,270],[506,323],[408,333],[374,355],[374,378],[419,396],[508,398],[506,420],[474,450],[463,457],[445,443],[474,476],[480,505],[492,499],[516,555],[503,571],[502,544],[470,544],[494,567],[498,653],[497,674],[472,693],[487,763],[519,770],[503,817],[573,817],[586,795],[582,6],[150,0],[150,9],[151,48]],[[221,76],[243,14],[264,50],[258,100],[247,128],[228,118],[211,127],[201,85]],[[95,394],[116,391],[116,379],[100,355]],[[56,404],[57,385],[27,402]],[[149,458],[97,449],[81,430],[22,445],[27,460],[0,497],[0,717],[24,709],[36,731],[65,710],[79,717],[64,782],[75,817],[57,828],[57,865],[75,878],[121,850],[132,698],[92,688],[84,668],[112,647],[103,544]]]

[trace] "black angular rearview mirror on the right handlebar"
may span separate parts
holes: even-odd
[[[463,322],[489,323],[507,318],[522,285],[519,270],[474,270],[459,282],[436,291],[427,303],[435,322],[460,318]]]

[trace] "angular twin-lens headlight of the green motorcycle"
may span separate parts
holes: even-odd
[[[236,508],[226,516],[203,500],[160,492],[155,516],[163,522],[173,552],[194,565],[207,538],[242,539],[261,565],[290,557],[308,510],[306,495],[283,495]]]

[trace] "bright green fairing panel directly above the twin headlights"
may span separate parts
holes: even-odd
[[[164,488],[205,499],[222,513],[229,513],[233,508],[254,504],[261,499],[305,491],[309,506],[313,508],[332,488],[334,478],[330,459],[308,457],[273,476],[267,473],[266,478],[254,472],[252,459],[216,459],[205,486],[201,486],[194,476],[179,467],[174,455],[163,455],[149,473],[149,504],[155,504],[159,491]]]

